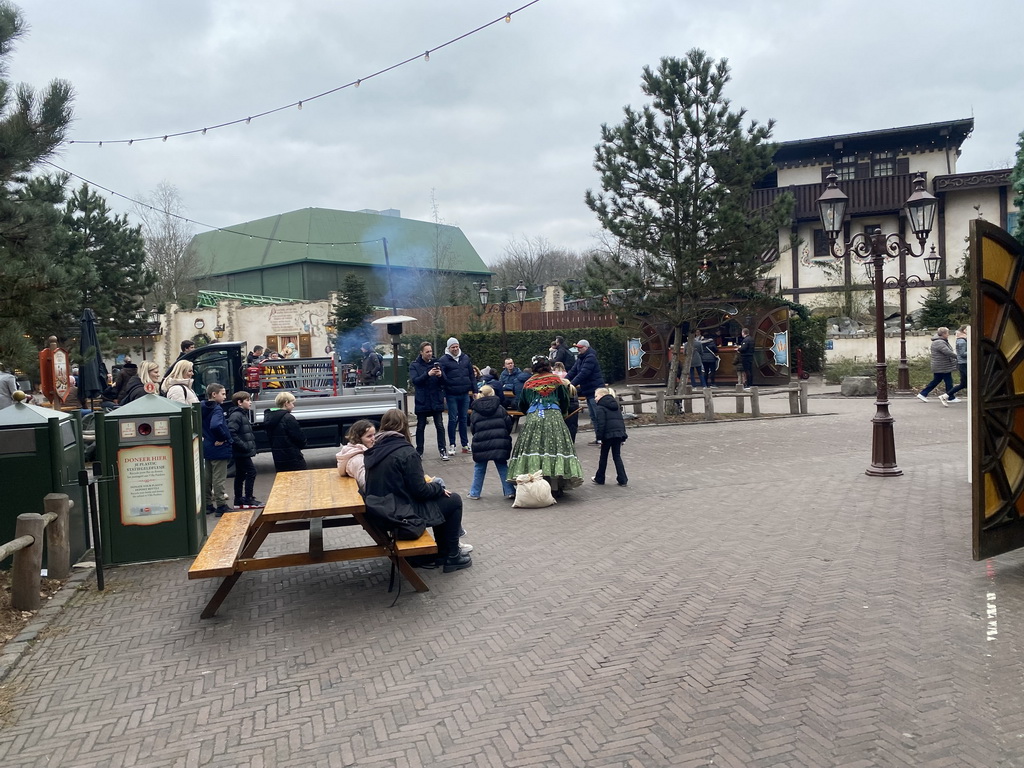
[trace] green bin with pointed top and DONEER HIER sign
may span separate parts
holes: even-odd
[[[200,414],[147,394],[96,418],[103,563],[199,554],[206,541]]]

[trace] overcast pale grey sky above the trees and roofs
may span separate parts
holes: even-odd
[[[17,82],[76,90],[71,138],[200,129],[366,78],[528,0],[22,2]],[[494,262],[513,238],[592,246],[602,123],[640,74],[699,47],[778,140],[975,118],[957,170],[1012,165],[1024,2],[539,0],[358,88],[207,135],[73,144],[55,162],[128,197],[168,181],[211,226],[306,207],[440,217]],[[112,207],[130,204],[112,199]],[[197,226],[197,231],[204,227]]]

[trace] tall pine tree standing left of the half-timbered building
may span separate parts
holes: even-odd
[[[616,295],[623,316],[648,315],[675,330],[669,385],[679,376],[684,330],[717,312],[716,299],[756,285],[770,268],[763,254],[778,246],[793,200],[754,211],[754,185],[772,169],[773,122],[744,127],[744,110],[723,96],[725,59],[693,49],[644,68],[651,104],[625,108],[616,126],[601,126],[594,167],[602,191],[587,205],[618,241],[588,265],[592,290]],[[621,300],[620,300],[621,299]]]

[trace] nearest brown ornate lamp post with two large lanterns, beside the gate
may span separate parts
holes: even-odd
[[[883,234],[881,229],[873,232],[859,232],[842,247],[838,247],[849,198],[836,185],[839,177],[833,171],[827,176],[828,185],[818,198],[818,214],[821,225],[828,236],[828,250],[837,259],[845,259],[847,254],[874,267],[874,370],[878,393],[874,400],[874,417],[871,419],[871,466],[865,474],[873,477],[896,477],[903,470],[896,466],[896,441],[893,432],[893,418],[889,414],[889,381],[886,377],[886,334],[885,334],[885,287],[882,267],[887,258],[900,256],[920,257],[924,254],[925,243],[932,231],[938,201],[925,189],[925,179],[919,175],[913,180],[913,191],[904,206],[910,229],[921,247],[915,253],[911,244],[898,233]],[[905,290],[905,288],[903,289]]]

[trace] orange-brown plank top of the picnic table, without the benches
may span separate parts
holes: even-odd
[[[279,472],[263,520],[304,520],[361,512],[362,497],[354,477],[341,477],[335,467]]]

